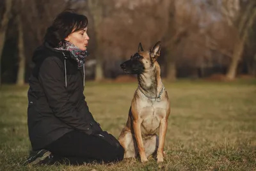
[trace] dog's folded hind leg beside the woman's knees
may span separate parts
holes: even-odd
[[[134,137],[130,131],[125,131],[122,136],[118,138],[122,147],[124,147],[124,158],[135,158],[138,154],[138,147]]]

